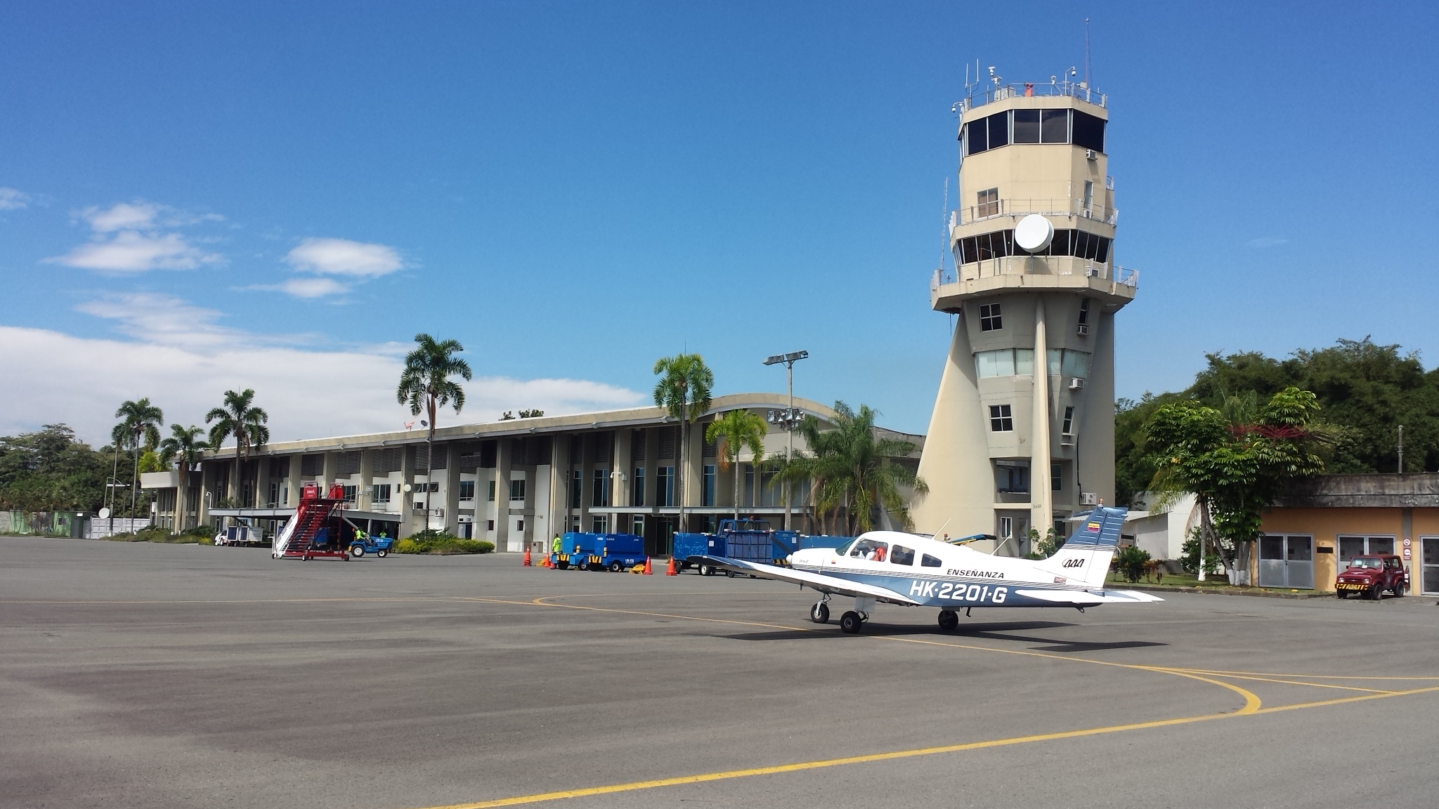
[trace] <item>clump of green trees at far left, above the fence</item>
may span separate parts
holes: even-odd
[[[65,425],[0,436],[0,510],[96,511],[105,504],[106,461]]]

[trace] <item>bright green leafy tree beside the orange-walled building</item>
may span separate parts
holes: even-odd
[[[1200,556],[1215,548],[1233,566],[1233,550],[1248,553],[1259,537],[1262,510],[1279,487],[1324,471],[1320,452],[1333,436],[1318,412],[1315,396],[1297,387],[1263,406],[1253,397],[1230,397],[1222,410],[1197,402],[1163,404],[1144,425],[1156,469],[1148,488],[1160,494],[1160,505],[1193,494]],[[1232,547],[1217,541],[1219,534]]]

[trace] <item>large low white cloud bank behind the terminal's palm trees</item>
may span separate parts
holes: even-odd
[[[115,407],[148,396],[165,420],[203,426],[226,390],[253,387],[269,412],[273,440],[399,430],[413,419],[394,400],[403,364],[393,345],[330,351],[294,340],[216,325],[213,309],[164,295],[94,301],[82,311],[117,321],[131,338],[86,338],[0,325],[0,435],[65,422],[96,445],[108,440]],[[468,403],[440,426],[494,420],[504,410],[547,415],[633,407],[633,390],[573,379],[479,377]]]

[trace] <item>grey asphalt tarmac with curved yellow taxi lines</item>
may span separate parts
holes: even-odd
[[[813,600],[0,537],[0,806],[1439,805],[1433,597]]]

